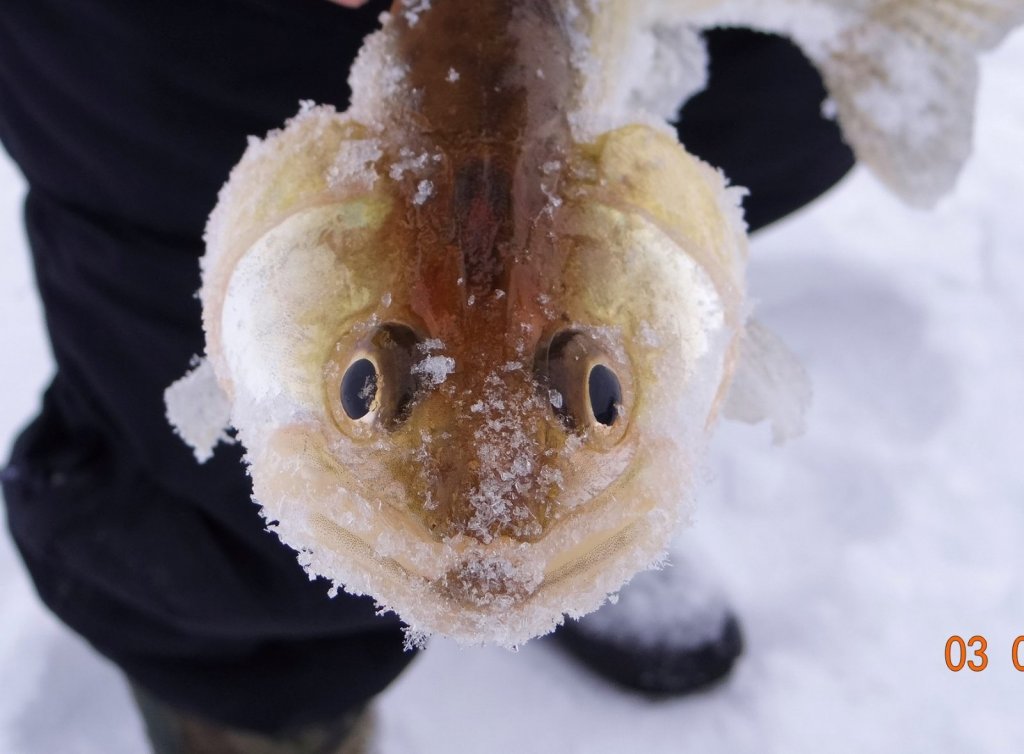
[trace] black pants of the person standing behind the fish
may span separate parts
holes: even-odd
[[[0,138],[30,186],[26,223],[57,365],[3,473],[8,523],[46,604],[165,701],[273,731],[339,715],[412,655],[397,620],[326,596],[263,531],[239,449],[198,466],[163,390],[203,350],[206,215],[246,135],[299,99],[343,110],[384,3],[5,0]],[[691,152],[752,190],[760,226],[852,157],[820,81],[782,40],[710,35]]]

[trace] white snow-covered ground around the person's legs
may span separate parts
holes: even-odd
[[[650,703],[545,641],[433,641],[381,700],[386,754],[1010,752],[1024,737],[1024,34],[984,66],[976,155],[933,213],[858,172],[759,236],[751,290],[815,386],[806,436],[724,424],[696,528],[743,620],[731,679]],[[0,447],[51,368],[0,158]],[[951,673],[950,634],[989,666]],[[1024,653],[1022,653],[1024,654]],[[1024,659],[1024,658],[1022,658]],[[0,537],[0,752],[138,754],[116,671]]]

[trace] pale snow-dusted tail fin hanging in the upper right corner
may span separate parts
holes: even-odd
[[[860,24],[810,45],[826,113],[887,186],[931,207],[972,151],[978,55],[1022,22],[1021,0],[874,3]]]

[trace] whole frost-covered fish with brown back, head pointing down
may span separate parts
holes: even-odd
[[[1018,0],[397,0],[345,112],[251,138],[202,259],[205,357],[166,393],[245,446],[267,528],[411,644],[518,646],[656,567],[719,418],[798,434],[752,318],[741,187],[667,125],[702,29],[793,39],[857,158],[934,204]]]

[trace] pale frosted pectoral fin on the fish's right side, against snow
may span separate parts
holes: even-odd
[[[773,332],[749,321],[723,416],[749,424],[768,419],[777,445],[804,432],[810,403],[811,381],[797,357]]]

